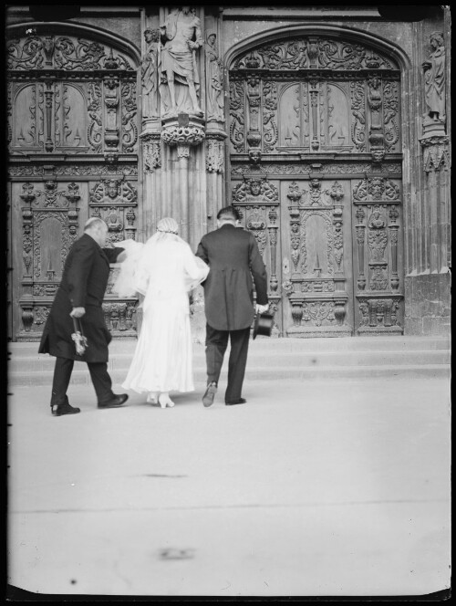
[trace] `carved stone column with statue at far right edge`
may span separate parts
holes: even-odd
[[[444,9],[445,11],[446,9]],[[449,16],[449,15],[447,15]],[[413,215],[415,256],[406,277],[407,333],[448,335],[451,309],[451,141],[448,136],[451,104],[449,51],[451,26],[444,16],[440,31],[422,37],[417,67],[418,100],[422,107],[420,137],[421,212]],[[428,30],[429,31],[429,30]],[[419,207],[419,208],[420,208]]]

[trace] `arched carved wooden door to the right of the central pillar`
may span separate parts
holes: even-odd
[[[268,269],[275,334],[403,329],[399,66],[340,38],[230,70],[232,204]]]

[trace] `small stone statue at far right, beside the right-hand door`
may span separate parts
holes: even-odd
[[[434,121],[445,121],[445,47],[439,32],[430,35],[430,61],[424,61],[424,94],[429,116]]]

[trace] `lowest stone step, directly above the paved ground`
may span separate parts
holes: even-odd
[[[72,384],[88,384],[89,374],[87,370],[73,371],[71,375]],[[109,372],[113,383],[119,385],[125,380],[126,372],[124,370],[114,370]],[[8,390],[18,386],[33,385],[51,385],[52,371],[43,372],[11,372],[8,375]],[[398,366],[314,366],[303,368],[302,366],[277,367],[255,367],[247,366],[245,381],[331,381],[331,380],[370,380],[373,378],[384,378],[385,380],[400,378],[450,378],[450,366],[448,364],[427,364],[425,366],[403,364]],[[204,369],[194,370],[195,384],[203,385],[206,380]],[[222,372],[221,383],[226,383],[226,370]]]

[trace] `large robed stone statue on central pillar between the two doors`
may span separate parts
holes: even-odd
[[[200,78],[196,65],[196,50],[202,46],[200,19],[190,10],[190,6],[181,6],[180,9],[173,9],[160,30],[162,48],[159,70],[165,115],[177,115],[178,111],[182,111],[202,116],[197,98]],[[183,90],[179,90],[177,85]]]

